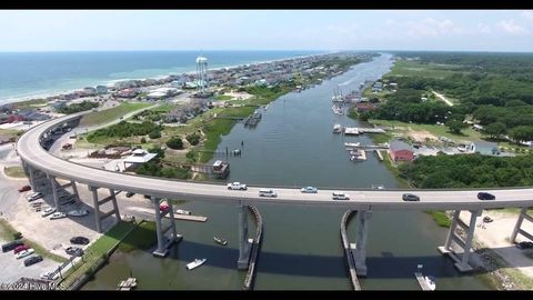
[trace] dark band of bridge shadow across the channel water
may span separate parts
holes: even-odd
[[[234,246],[233,246],[234,247]],[[150,249],[152,251],[153,249]],[[514,247],[500,248],[499,251],[516,250]],[[341,249],[340,249],[341,252]],[[341,252],[342,253],[342,252]],[[205,266],[214,268],[235,269],[239,249],[210,246],[182,240],[172,247],[168,259],[190,262],[195,258],[207,258]],[[392,252],[382,252],[381,256],[370,256],[366,259],[368,278],[373,279],[412,279],[418,264],[423,270],[439,278],[455,278],[462,274],[456,271],[451,258],[439,253],[435,247],[434,256],[402,257]],[[527,266],[532,267],[533,260]],[[344,256],[294,254],[260,251],[258,259],[259,273],[272,273],[303,277],[346,278],[348,267]],[[485,273],[486,270],[476,271]],[[465,274],[470,276],[470,274]]]

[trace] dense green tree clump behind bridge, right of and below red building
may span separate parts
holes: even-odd
[[[420,157],[399,169],[414,187],[422,189],[533,186],[533,154]]]

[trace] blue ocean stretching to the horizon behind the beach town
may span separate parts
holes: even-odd
[[[324,51],[0,52],[0,104],[125,79],[190,72],[195,70],[198,56],[208,58],[209,68],[221,68],[322,52]]]

